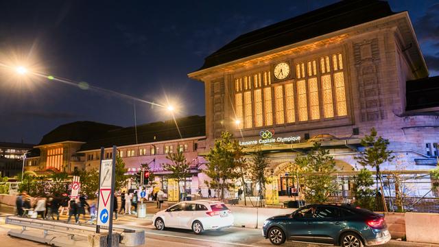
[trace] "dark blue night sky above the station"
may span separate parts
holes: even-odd
[[[297,2],[297,3],[296,3]],[[0,2],[0,62],[87,82],[204,115],[204,86],[187,73],[233,38],[335,1]],[[439,74],[438,1],[394,0],[408,10],[430,75]],[[18,77],[0,68],[0,141],[38,143],[72,121],[134,125],[134,100]],[[137,103],[137,124],[169,113]]]

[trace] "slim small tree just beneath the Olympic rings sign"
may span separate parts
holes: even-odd
[[[250,179],[259,185],[259,198],[265,195],[265,183],[268,182],[268,162],[262,151],[254,152],[252,155],[252,162],[248,165],[248,175]]]

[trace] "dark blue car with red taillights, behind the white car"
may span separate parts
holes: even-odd
[[[285,241],[362,247],[385,244],[390,233],[384,217],[349,205],[313,204],[270,217],[263,236],[274,245]]]

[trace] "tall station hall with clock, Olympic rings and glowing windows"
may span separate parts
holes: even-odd
[[[348,188],[372,127],[396,155],[382,170],[436,167],[439,78],[428,78],[408,13],[385,1],[340,1],[243,34],[189,78],[205,86],[206,145],[228,130],[246,152],[265,151],[281,194],[294,186],[287,165],[316,141]]]

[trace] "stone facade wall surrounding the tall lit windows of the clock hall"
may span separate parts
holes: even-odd
[[[360,139],[369,134],[371,128],[376,128],[379,135],[389,139],[389,149],[399,155],[399,161],[405,164],[405,169],[430,169],[434,158],[427,156],[426,145],[439,140],[439,118],[435,115],[410,115],[405,112],[405,82],[414,80],[417,76],[406,49],[418,48],[414,44],[409,46],[410,40],[403,38],[399,29],[401,20],[388,19],[368,23],[346,33],[344,38],[324,45],[304,44],[295,52],[285,51],[285,55],[273,55],[272,60],[254,58],[257,62],[248,62],[241,67],[237,65],[235,69],[228,69],[226,72],[206,73],[200,79],[206,88],[206,146],[212,146],[225,130],[246,140],[258,137],[261,130],[273,128],[276,134],[300,136],[302,141],[306,141],[305,133],[309,137],[331,134],[339,138]],[[276,54],[278,53],[281,51],[276,50]],[[344,78],[347,117],[309,121],[307,124],[298,124],[296,121],[294,124],[261,128],[236,128],[234,78],[252,75],[257,71],[272,71],[273,64],[284,60],[290,61],[294,70],[294,64],[298,61],[338,53],[344,56],[346,68]],[[353,128],[359,128],[358,135],[353,134]],[[352,153],[353,150],[331,152],[337,154],[340,161],[355,167],[354,154],[342,155]],[[429,160],[427,163],[430,165],[416,161],[419,159]],[[294,161],[294,154],[291,154],[289,160]],[[385,166],[386,169],[394,169],[393,163]]]

